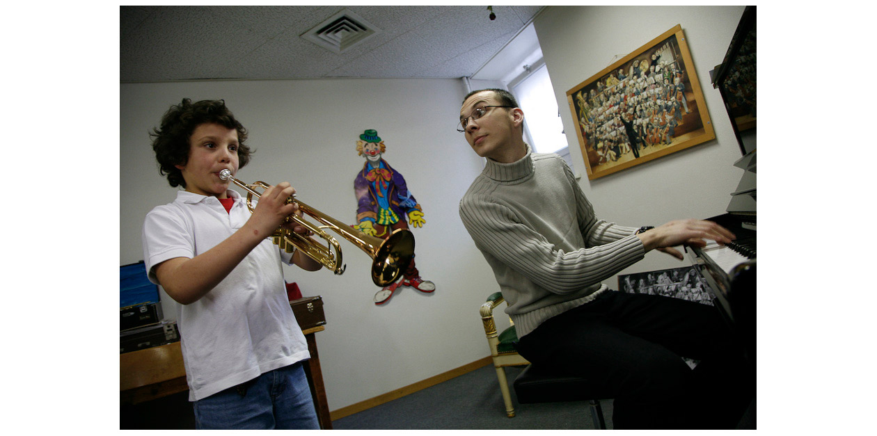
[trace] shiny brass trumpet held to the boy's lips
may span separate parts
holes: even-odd
[[[248,185],[239,179],[232,177],[232,172],[227,169],[219,172],[219,178],[223,180],[232,180],[235,185],[246,190],[246,207],[250,209],[250,213],[253,213],[254,208],[253,196],[257,199],[260,197],[260,193],[258,193],[256,189],[262,188],[264,192],[265,189],[270,187],[270,185],[263,181],[257,181]],[[303,214],[310,215],[323,225],[316,226],[305,221],[296,214],[289,215],[286,218],[286,222],[295,222],[296,224],[310,230],[314,235],[323,238],[326,242],[326,245],[323,245],[322,243],[310,239],[310,237],[301,236],[294,231],[283,229],[281,227],[275,230],[271,235],[271,239],[273,243],[277,244],[287,253],[291,253],[293,247],[295,247],[308,257],[323,264],[323,266],[329,270],[332,270],[335,274],[343,274],[346,265],[341,263],[341,247],[339,246],[338,241],[324,230],[331,229],[340,236],[343,236],[347,241],[350,241],[361,250],[365,251],[366,254],[374,260],[372,263],[372,281],[374,282],[374,285],[378,286],[386,286],[395,283],[405,269],[408,268],[411,259],[414,258],[414,235],[408,229],[396,229],[389,238],[384,240],[376,236],[368,236],[353,229],[353,227],[343,222],[339,222],[331,216],[323,214],[317,209],[304,204],[301,200],[294,200],[293,197],[289,197],[286,201],[287,203],[296,202],[299,210],[301,210]]]

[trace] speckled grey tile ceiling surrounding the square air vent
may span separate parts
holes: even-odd
[[[299,35],[349,8],[381,32],[345,53]],[[122,6],[123,82],[474,74],[541,6]]]

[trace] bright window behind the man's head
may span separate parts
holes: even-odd
[[[521,109],[524,109],[524,128],[530,137],[533,151],[557,153],[573,168],[567,135],[560,121],[560,109],[554,98],[554,88],[545,64],[532,69],[529,74],[524,74],[510,88]]]

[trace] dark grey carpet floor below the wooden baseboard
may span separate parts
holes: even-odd
[[[523,368],[507,368],[509,383]],[[366,411],[332,421],[336,430],[410,429],[593,429],[587,401],[518,404],[511,390],[515,418],[505,415],[503,395],[492,365]],[[602,401],[607,428],[612,428],[612,402]]]

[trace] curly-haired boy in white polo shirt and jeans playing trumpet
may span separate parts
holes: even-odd
[[[310,358],[289,307],[280,262],[322,265],[271,243],[299,214],[287,182],[269,187],[251,214],[219,178],[249,162],[246,129],[222,101],[183,99],[153,137],[160,173],[182,186],[143,226],[149,279],[180,303],[177,324],[198,428],[319,428],[302,364]],[[278,393],[279,392],[279,393]]]

